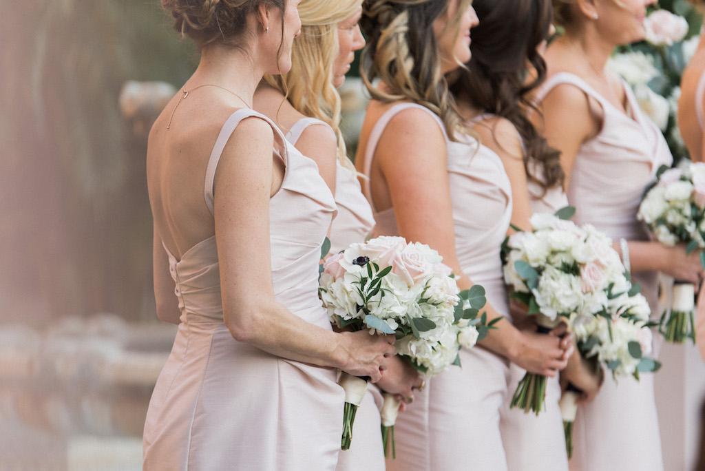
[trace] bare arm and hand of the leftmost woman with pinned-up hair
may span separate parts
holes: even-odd
[[[273,142],[269,124],[246,118],[235,128],[216,170],[214,219],[224,322],[233,338],[273,355],[378,381],[387,357],[394,354],[393,336],[338,334],[309,324],[274,299],[269,200],[281,185],[283,168],[272,159]]]

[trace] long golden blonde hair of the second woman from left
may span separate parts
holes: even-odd
[[[333,87],[333,61],[338,55],[338,24],[353,16],[362,0],[302,0],[298,6],[301,35],[291,50],[291,70],[265,75],[269,85],[286,95],[301,114],[328,123],[338,139],[338,160],[348,159],[341,131],[341,97]]]

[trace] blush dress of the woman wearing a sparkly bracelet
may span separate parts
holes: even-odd
[[[616,109],[584,80],[570,73],[557,73],[541,88],[539,102],[560,84],[580,88],[603,109],[603,126],[596,137],[578,149],[568,187],[568,201],[576,208],[573,220],[590,223],[612,240],[649,240],[646,228],[636,219],[646,185],[658,167],[673,158],[661,131],[639,109],[632,90],[624,84],[632,116]],[[649,300],[651,317],[658,307],[658,273],[633,274]],[[661,342],[654,335],[654,353]],[[641,381],[632,377],[618,381],[607,374],[597,398],[579,408],[573,430],[573,471],[661,471],[663,457],[654,400],[654,375]]]

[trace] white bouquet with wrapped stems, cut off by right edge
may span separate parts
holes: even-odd
[[[644,221],[654,238],[666,245],[686,243],[686,252],[705,247],[705,164],[687,160],[674,168],[661,166],[658,181],[646,191],[637,218]],[[705,255],[700,252],[705,267]],[[661,332],[667,341],[695,343],[694,289],[692,283],[675,281],[670,316],[661,317]]]

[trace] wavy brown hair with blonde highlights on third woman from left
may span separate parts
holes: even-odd
[[[433,25],[447,14],[450,0],[366,0],[360,24],[367,34],[362,51],[360,76],[373,99],[381,102],[409,100],[437,114],[448,137],[455,133],[476,136],[462,121],[448,82],[441,72],[441,59]],[[458,11],[450,18],[446,34],[460,33],[462,16],[472,0],[458,0]],[[462,66],[460,61],[458,65]],[[391,93],[372,86],[379,78]]]

